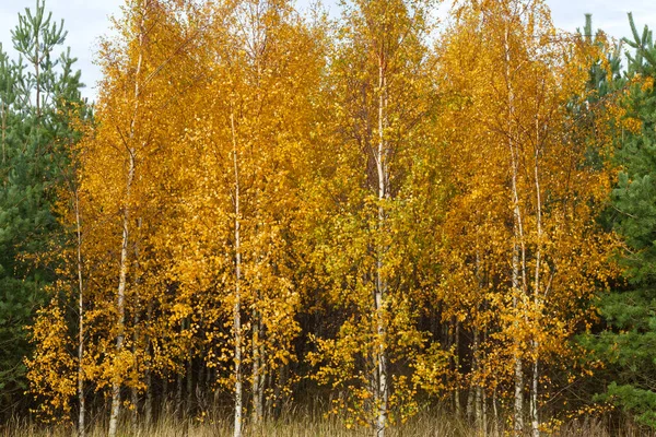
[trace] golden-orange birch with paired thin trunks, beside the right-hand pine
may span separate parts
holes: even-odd
[[[483,47],[480,57],[469,59],[475,76],[489,74],[487,82],[469,75],[470,85],[456,85],[475,93],[459,110],[473,116],[481,130],[472,131],[479,138],[466,134],[454,137],[454,141],[466,147],[468,141],[482,144],[485,157],[481,161],[492,164],[475,164],[478,168],[466,184],[471,187],[466,196],[480,196],[494,187],[491,193],[501,210],[495,212],[488,204],[483,223],[500,220],[506,224],[505,232],[487,237],[488,247],[500,249],[470,255],[470,259],[478,260],[478,255],[484,253],[489,258],[485,264],[491,261],[488,265],[493,268],[491,279],[496,276],[494,282],[489,280],[490,290],[482,298],[489,310],[501,317],[490,318],[489,314],[479,322],[492,329],[489,338],[494,343],[501,342],[488,346],[496,361],[487,361],[490,365],[501,363],[501,344],[512,351],[512,355],[505,355],[512,363],[512,370],[506,368],[505,375],[512,378],[515,434],[525,432],[524,420],[528,416],[530,432],[537,436],[539,387],[543,387],[540,363],[552,363],[554,356],[562,359],[569,354],[563,345],[575,332],[570,322],[588,317],[589,306],[577,303],[589,302],[612,275],[612,268],[604,261],[613,246],[612,238],[604,236],[594,218],[608,196],[608,173],[587,164],[589,150],[574,133],[579,127],[567,110],[570,102],[586,95],[587,66],[593,58],[584,44],[574,44],[570,50],[564,47],[572,39],[557,35],[541,2],[472,3],[457,13],[456,32],[469,40],[457,35],[453,48],[470,50],[472,44]],[[467,76],[456,73],[448,81]],[[605,145],[596,146],[602,151]],[[468,165],[466,160],[461,163]],[[579,198],[581,192],[587,193],[586,201]],[[588,243],[575,248],[573,243],[583,238]],[[499,261],[492,261],[495,258]],[[470,272],[478,269],[478,261],[469,267],[466,259],[459,262]],[[583,265],[578,262],[595,269],[574,268]],[[507,272],[494,268],[503,264],[509,267]]]

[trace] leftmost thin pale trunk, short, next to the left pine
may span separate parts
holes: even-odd
[[[3,132],[4,133],[4,132]],[[4,146],[4,144],[3,144]],[[4,152],[4,151],[3,151]],[[4,155],[3,155],[4,157]],[[74,184],[74,182],[73,182]],[[80,198],[78,187],[73,188],[73,202],[75,209],[75,234],[78,237],[78,402],[80,412],[78,414],[78,436],[86,434],[84,416],[86,408],[84,403],[84,283],[82,281],[82,221],[80,220]]]

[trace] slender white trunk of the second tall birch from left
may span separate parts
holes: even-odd
[[[234,437],[242,436],[242,410],[243,405],[243,375],[242,375],[242,240],[239,236],[241,211],[239,211],[239,163],[237,158],[237,133],[235,130],[234,110],[230,115],[230,125],[233,140],[233,165],[235,177],[235,303],[233,307],[233,335],[235,341],[235,420]]]

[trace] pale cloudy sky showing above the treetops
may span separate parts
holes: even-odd
[[[125,0],[46,0],[46,9],[52,19],[63,19],[68,31],[66,45],[71,55],[78,58],[77,67],[82,70],[82,81],[86,84],[83,95],[91,101],[96,95],[96,82],[101,71],[93,63],[98,48],[98,38],[109,32],[108,16],[118,14]],[[298,0],[301,7],[309,0]],[[450,0],[445,0],[450,2]],[[12,54],[11,29],[17,24],[19,12],[34,9],[36,0],[0,0],[0,43]],[[338,12],[337,0],[324,0],[332,15]],[[639,29],[647,24],[656,28],[656,1],[648,0],[547,0],[557,27],[575,31],[583,27],[584,14],[593,13],[596,28],[602,28],[616,38],[630,35],[626,12],[633,12]]]

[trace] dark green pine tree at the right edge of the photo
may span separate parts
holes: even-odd
[[[621,172],[604,218],[623,238],[620,262],[626,284],[601,299],[607,329],[586,335],[583,344],[606,363],[598,376],[609,383],[596,399],[610,401],[637,423],[656,428],[656,391],[649,382],[656,377],[652,352],[656,347],[656,49],[652,32],[645,26],[639,35],[631,14],[629,21],[633,39],[623,42],[635,54],[626,54],[624,78],[619,76],[619,62],[610,58],[613,83],[601,79],[600,68],[593,71],[597,74],[591,81],[599,98],[625,90],[621,119],[613,121],[618,127],[614,158]]]

